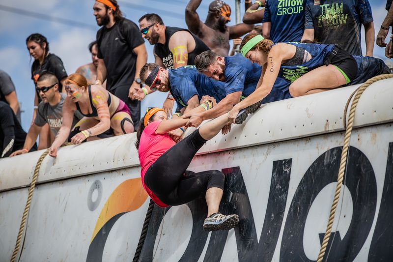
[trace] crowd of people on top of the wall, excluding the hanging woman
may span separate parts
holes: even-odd
[[[123,17],[116,0],[96,0],[92,8],[101,28],[88,46],[92,61],[71,75],[61,58],[50,53],[45,36],[29,35],[33,119],[26,134],[14,84],[0,70],[1,157],[48,147],[55,157],[67,140],[80,144],[135,132],[140,128],[140,101],[156,90],[168,93],[162,107],[168,117],[188,119],[168,132],[178,142],[187,127],[227,112],[234,122],[241,109],[258,101],[362,83],[391,72],[372,56],[376,40],[386,57],[393,58],[393,30],[385,40],[393,26],[392,0],[387,0],[388,13],[376,39],[368,0],[245,0],[243,23],[233,26],[227,25],[227,3],[212,1],[205,22],[197,13],[200,3],[190,0],[184,6],[185,29],[167,26],[155,13],[138,18],[137,25]],[[144,39],[154,45],[153,54],[147,54]],[[148,55],[154,63],[147,63]],[[321,76],[326,80],[315,80]],[[210,100],[214,107],[193,111]],[[229,130],[228,122],[223,132]]]

